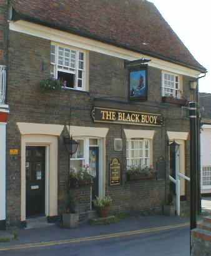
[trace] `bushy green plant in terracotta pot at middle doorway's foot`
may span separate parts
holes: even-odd
[[[110,205],[112,204],[112,198],[110,198],[109,196],[106,196],[104,198],[97,197],[93,203],[99,217],[106,218],[109,216]]]

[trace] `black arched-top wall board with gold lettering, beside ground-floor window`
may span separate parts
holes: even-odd
[[[110,160],[110,186],[120,185],[121,181],[121,165],[118,158]]]

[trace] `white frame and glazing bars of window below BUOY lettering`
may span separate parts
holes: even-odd
[[[133,150],[132,146],[131,146],[132,141],[143,141],[143,145],[144,145],[143,148],[137,148],[137,150],[143,150],[143,156],[131,157],[131,151]],[[148,141],[147,149],[145,148],[145,141]],[[128,148],[128,146],[129,146],[129,148]],[[148,156],[145,156],[145,150],[148,150]],[[145,159],[147,159],[147,165],[143,165],[143,168],[145,166],[150,166],[150,163],[152,162],[152,160],[150,159],[152,156],[150,150],[151,150],[151,140],[149,140],[149,139],[146,139],[146,138],[129,138],[129,139],[127,139],[126,160],[127,160],[127,162],[129,162],[129,165],[127,165],[127,168],[129,168],[130,166],[133,166],[131,164],[131,160],[134,160],[134,159],[142,159],[144,162],[145,162]]]

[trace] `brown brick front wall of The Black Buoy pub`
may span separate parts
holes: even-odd
[[[165,200],[168,183],[164,181],[126,182],[124,128],[155,130],[154,165],[159,156],[164,156],[168,167],[166,131],[189,131],[189,121],[181,117],[179,106],[161,103],[161,71],[156,68],[149,68],[149,100],[143,103],[129,104],[127,103],[128,80],[127,71],[124,69],[124,60],[91,51],[89,53],[89,93],[72,90],[41,93],[39,81],[49,78],[50,45],[50,41],[34,36],[14,31],[10,31],[9,34],[8,101],[11,115],[7,125],[7,220],[12,223],[20,219],[21,158],[20,155],[16,158],[8,155],[11,148],[21,150],[21,135],[16,125],[17,122],[66,125],[71,121],[71,125],[76,126],[109,128],[106,138],[106,193],[114,198],[112,210],[116,212],[119,210],[160,208]],[[190,96],[189,80],[190,78],[184,78],[187,96]],[[102,98],[105,96],[110,96],[110,100]],[[114,100],[114,96],[116,101],[111,101]],[[94,100],[94,98],[99,99]],[[93,123],[91,109],[94,105],[159,113],[164,115],[165,125],[157,128]],[[123,138],[124,150],[122,152],[114,151],[114,138]],[[113,157],[118,157],[122,163],[122,184],[117,187],[109,186],[109,161]],[[186,158],[189,158],[189,150],[187,150]],[[64,205],[68,172],[69,160],[61,136],[59,138],[58,173],[59,209]],[[187,172],[189,172],[188,165]],[[168,171],[166,175],[169,175]],[[88,190],[76,194],[80,202],[83,202],[84,197],[89,197]],[[88,202],[84,205],[82,203],[82,208],[87,208],[87,205],[89,205]]]

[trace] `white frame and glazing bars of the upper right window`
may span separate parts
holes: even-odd
[[[165,74],[167,75],[170,75],[170,76],[174,76],[174,88],[172,87],[168,87],[168,86],[165,86]],[[176,82],[176,77],[178,78],[178,82]],[[178,88],[176,88],[176,84],[178,84]],[[180,84],[181,84],[181,81],[180,81],[180,75],[179,74],[175,74],[175,73],[170,73],[170,72],[167,72],[167,71],[162,71],[162,96],[169,96],[169,95],[165,95],[165,89],[170,89],[170,90],[173,90],[173,97],[174,98],[180,98]],[[177,91],[177,95],[176,95],[176,91]]]

